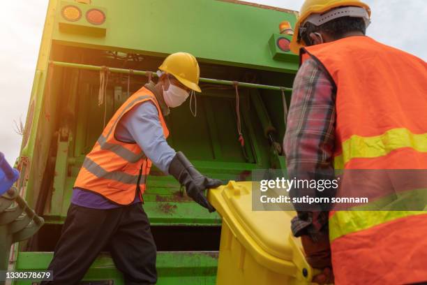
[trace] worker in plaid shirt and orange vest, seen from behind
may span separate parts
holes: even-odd
[[[359,0],[302,6],[291,43],[301,68],[283,142],[290,177],[427,169],[427,64],[365,36],[369,23]],[[292,231],[323,270],[317,283],[427,282],[426,212],[299,211]]]

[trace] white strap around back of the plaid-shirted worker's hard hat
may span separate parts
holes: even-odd
[[[307,20],[304,21],[301,27],[304,27],[306,22],[310,22],[315,26],[320,26],[321,24],[327,23],[339,17],[361,17],[365,20],[366,27],[368,27],[370,24],[369,14],[365,8],[347,6],[347,7],[332,9],[322,14],[320,13],[311,14],[310,16],[308,16]]]

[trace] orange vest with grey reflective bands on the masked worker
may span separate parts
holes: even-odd
[[[145,101],[156,105],[163,134],[165,138],[169,136],[156,96],[149,89],[142,87],[121,105],[108,122],[95,146],[84,159],[74,184],[75,188],[93,191],[114,203],[128,205],[135,200],[139,186],[142,199],[151,161],[137,143],[121,142],[115,138],[114,133],[123,115]]]

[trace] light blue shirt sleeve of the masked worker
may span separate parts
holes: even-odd
[[[117,124],[115,136],[123,142],[136,142],[153,164],[168,174],[176,152],[163,135],[156,105],[146,101],[132,108]]]

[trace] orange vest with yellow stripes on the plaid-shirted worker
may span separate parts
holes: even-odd
[[[301,49],[336,87],[336,169],[427,169],[427,64],[352,36]],[[345,191],[345,189],[343,189]],[[336,284],[427,282],[427,212],[336,211]]]

